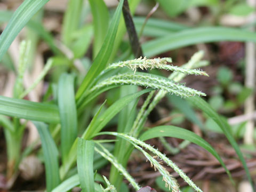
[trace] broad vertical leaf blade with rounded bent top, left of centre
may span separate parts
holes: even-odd
[[[66,162],[68,152],[77,137],[77,111],[74,76],[62,74],[58,86],[58,106],[61,122],[61,156]]]

